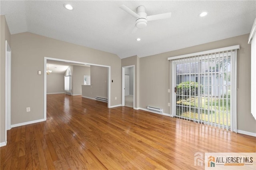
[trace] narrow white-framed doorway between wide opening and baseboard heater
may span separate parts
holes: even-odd
[[[134,65],[122,67],[122,106],[134,108]]]

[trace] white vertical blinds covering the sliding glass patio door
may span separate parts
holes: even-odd
[[[234,83],[235,49],[212,50],[170,57],[172,93],[172,114],[219,128],[235,129],[232,125],[232,86]],[[206,53],[206,54],[205,54]],[[233,121],[234,122],[234,121]]]

